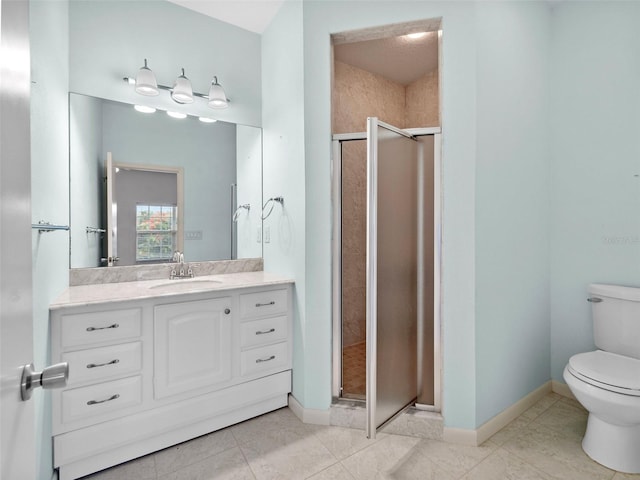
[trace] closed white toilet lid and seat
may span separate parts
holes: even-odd
[[[569,359],[569,372],[595,387],[640,397],[640,360],[596,350]]]

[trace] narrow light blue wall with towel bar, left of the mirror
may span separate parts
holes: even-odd
[[[32,219],[69,224],[68,3],[30,2]],[[49,365],[49,304],[67,287],[69,235],[33,233],[33,333],[37,369]],[[50,393],[34,392],[37,478],[51,478]]]

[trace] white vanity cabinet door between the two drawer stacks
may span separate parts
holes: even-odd
[[[232,317],[230,297],[155,307],[155,398],[231,378]]]

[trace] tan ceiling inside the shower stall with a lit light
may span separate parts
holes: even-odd
[[[334,58],[406,86],[438,68],[438,32],[340,43]]]

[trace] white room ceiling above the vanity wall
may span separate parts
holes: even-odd
[[[169,0],[176,5],[262,34],[284,0]]]

